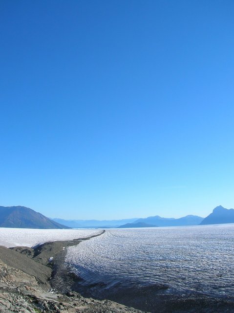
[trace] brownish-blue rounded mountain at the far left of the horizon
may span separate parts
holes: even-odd
[[[25,206],[0,206],[0,227],[69,228]]]

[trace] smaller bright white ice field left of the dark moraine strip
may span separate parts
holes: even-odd
[[[0,246],[36,246],[49,241],[72,240],[98,235],[94,229],[29,229],[0,227]]]

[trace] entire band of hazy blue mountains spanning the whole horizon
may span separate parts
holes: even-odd
[[[225,209],[221,205],[215,207],[213,212],[205,219],[200,216],[187,215],[185,217],[163,218],[158,215],[145,219],[125,220],[63,220],[49,219],[41,213],[25,206],[0,206],[0,227],[18,228],[133,228],[156,226],[188,226],[205,224],[234,223],[234,209]]]

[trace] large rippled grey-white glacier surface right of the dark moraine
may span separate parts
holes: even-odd
[[[69,247],[66,262],[83,285],[233,295],[234,224],[109,229]]]

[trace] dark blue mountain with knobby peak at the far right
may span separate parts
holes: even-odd
[[[234,209],[225,209],[222,205],[216,206],[200,224],[226,224],[234,223]]]

